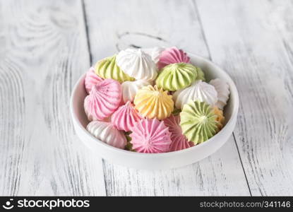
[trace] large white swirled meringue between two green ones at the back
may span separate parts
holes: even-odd
[[[153,81],[157,77],[155,62],[141,49],[121,50],[116,57],[116,64],[137,80]]]

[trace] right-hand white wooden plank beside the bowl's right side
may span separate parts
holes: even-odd
[[[292,195],[292,1],[196,1],[240,95],[235,137],[253,195]]]

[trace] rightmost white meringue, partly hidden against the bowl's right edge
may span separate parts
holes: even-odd
[[[227,105],[230,94],[228,83],[221,80],[220,78],[215,78],[210,81],[210,85],[214,86],[215,90],[217,90],[217,102],[215,105],[219,107],[220,110],[223,110],[225,105]]]

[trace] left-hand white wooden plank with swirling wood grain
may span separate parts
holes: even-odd
[[[0,5],[0,195],[104,195],[68,112],[90,64],[80,1]]]

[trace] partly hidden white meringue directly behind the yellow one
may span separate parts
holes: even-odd
[[[138,81],[125,81],[121,84],[122,86],[122,97],[124,102],[133,102],[136,93],[140,88],[148,86],[150,83],[148,81],[138,80]]]

